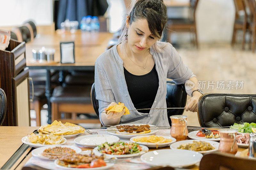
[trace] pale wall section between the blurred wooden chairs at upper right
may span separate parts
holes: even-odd
[[[200,0],[196,12],[199,42],[230,42],[235,6],[233,0]]]

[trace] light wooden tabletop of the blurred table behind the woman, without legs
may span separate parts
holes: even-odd
[[[76,33],[61,33],[57,30],[53,34],[38,34],[33,42],[26,43],[26,59],[27,66],[33,67],[47,67],[47,66],[94,66],[95,60],[107,48],[108,41],[113,34],[108,32],[81,32],[77,30]],[[49,64],[49,63],[33,63],[32,49],[54,48],[54,61],[60,62],[60,42],[74,41],[75,42],[75,62],[74,64]],[[86,68],[85,68],[86,69]]]

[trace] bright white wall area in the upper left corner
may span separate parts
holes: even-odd
[[[0,0],[0,26],[18,26],[28,19],[36,25],[53,22],[52,0]]]

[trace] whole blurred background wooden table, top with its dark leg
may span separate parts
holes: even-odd
[[[26,43],[26,63],[29,69],[45,69],[45,96],[48,103],[48,123],[51,124],[52,106],[50,97],[52,95],[50,70],[60,70],[60,79],[63,70],[94,71],[96,59],[102,54],[108,41],[112,39],[113,33],[109,32],[83,32],[77,30],[75,33],[56,30],[50,34],[38,34],[34,41]],[[60,63],[60,42],[74,41],[75,63]],[[34,61],[32,49],[53,48],[54,62]]]

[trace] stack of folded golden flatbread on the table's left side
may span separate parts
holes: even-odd
[[[73,135],[77,133],[84,133],[84,128],[72,123],[61,123],[58,121],[52,122],[52,124],[47,124],[41,126],[37,131],[43,134],[53,133],[54,135]]]

